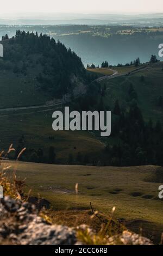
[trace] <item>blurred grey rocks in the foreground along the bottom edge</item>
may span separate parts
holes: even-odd
[[[79,229],[82,230],[82,226]],[[93,235],[92,230],[91,233]],[[77,241],[74,229],[48,224],[39,217],[33,204],[4,197],[0,199],[0,244],[81,245],[82,243]],[[126,230],[120,235],[108,238],[108,245],[116,244],[152,245],[152,242],[146,237]]]

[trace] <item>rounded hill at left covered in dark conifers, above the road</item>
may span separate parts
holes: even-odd
[[[16,31],[2,37],[1,106],[31,105],[72,93],[86,84],[85,69],[76,53],[42,33]],[[12,92],[10,102],[8,93]],[[33,96],[34,95],[34,96]]]

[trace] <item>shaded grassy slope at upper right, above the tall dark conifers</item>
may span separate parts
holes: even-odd
[[[141,81],[141,76],[145,77],[144,81]],[[163,120],[163,113],[156,106],[156,100],[160,95],[163,95],[162,81],[162,63],[151,65],[148,69],[133,72],[128,76],[102,81],[101,83],[105,83],[107,86],[105,103],[113,107],[115,100],[118,99],[120,105],[126,108],[128,106],[128,89],[132,83],[138,96],[138,105],[145,120],[148,121],[149,118],[152,118],[153,121],[158,119],[161,121]]]

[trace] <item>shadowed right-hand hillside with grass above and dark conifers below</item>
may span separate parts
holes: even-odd
[[[111,135],[100,138],[95,132],[105,143],[102,165],[162,166],[162,79],[162,62],[146,63],[140,70],[91,85],[87,95],[74,102],[78,109],[111,111]]]

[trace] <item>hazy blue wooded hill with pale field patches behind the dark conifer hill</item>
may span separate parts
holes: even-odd
[[[79,19],[79,17],[78,17]],[[141,20],[138,19],[137,20]],[[93,17],[90,17],[90,22]],[[34,21],[32,21],[31,24]],[[45,21],[44,21],[45,22]],[[58,22],[58,21],[57,21]],[[74,23],[76,21],[74,20]],[[103,20],[102,20],[103,22]],[[80,58],[84,66],[94,63],[101,65],[104,60],[109,64],[126,64],[138,56],[141,62],[147,62],[151,54],[155,54],[158,59],[158,46],[163,40],[162,22],[152,25],[150,22],[142,25],[126,23],[120,26],[112,21],[112,25],[0,25],[0,37],[8,34],[9,37],[15,35],[15,31],[21,29],[26,32],[42,32],[48,34],[56,41],[59,40],[67,48],[71,48]],[[83,20],[86,23],[86,19]],[[23,24],[23,23],[22,23]],[[36,23],[37,24],[37,23]],[[146,46],[146,47],[145,47]]]

